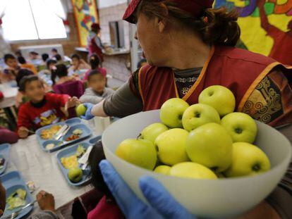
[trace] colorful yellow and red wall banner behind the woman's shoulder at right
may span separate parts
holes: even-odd
[[[292,0],[216,0],[214,7],[221,6],[238,11],[241,41],[248,50],[273,57],[274,46],[286,42],[281,52],[292,51]]]

